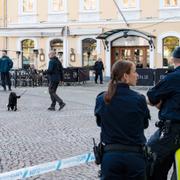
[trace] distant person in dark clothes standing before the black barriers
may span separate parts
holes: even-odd
[[[94,64],[94,70],[95,70],[95,83],[97,84],[98,76],[100,77],[100,84],[103,84],[103,70],[104,65],[101,60],[101,58],[98,58],[98,60]]]

